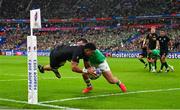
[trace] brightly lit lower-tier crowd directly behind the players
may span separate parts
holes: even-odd
[[[158,31],[157,31],[158,32]],[[38,50],[51,50],[56,45],[74,45],[79,38],[86,38],[93,42],[102,51],[141,51],[143,38],[148,31],[139,29],[105,29],[88,30],[80,32],[35,32],[37,36]],[[6,41],[0,44],[0,50],[26,50],[27,33],[23,31],[9,31]],[[180,30],[169,29],[168,37],[173,43],[172,51],[180,51]],[[134,39],[132,39],[134,38]]]

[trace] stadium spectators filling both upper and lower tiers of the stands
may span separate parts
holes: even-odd
[[[42,19],[93,18],[116,16],[141,16],[180,13],[179,0],[0,0],[0,19],[29,18],[29,10],[41,9]],[[44,20],[44,19],[43,19]],[[86,38],[102,51],[140,51],[142,39],[148,31],[136,25],[158,24],[168,26],[168,36],[173,51],[180,51],[179,18],[122,19],[92,22],[43,22],[44,28],[78,28],[73,31],[36,31],[38,49],[50,50],[56,45],[73,45],[77,39]],[[175,27],[176,29],[172,29]],[[131,27],[133,25],[133,28]],[[96,29],[96,27],[107,27]],[[131,27],[131,28],[124,28]],[[136,28],[135,28],[136,27]],[[0,50],[26,50],[28,23],[0,23]],[[79,31],[80,30],[80,31]],[[1,41],[1,37],[5,39]]]

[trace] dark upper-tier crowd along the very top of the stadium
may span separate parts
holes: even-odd
[[[0,0],[0,18],[29,18],[40,8],[42,18],[140,16],[179,13],[179,0]]]

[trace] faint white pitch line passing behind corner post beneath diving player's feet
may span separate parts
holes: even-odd
[[[80,77],[62,77],[61,79],[78,79]],[[23,79],[5,79],[5,80],[0,80],[0,82],[6,82],[6,81],[26,81],[28,80],[27,78]],[[57,78],[39,78],[39,80],[57,80]]]

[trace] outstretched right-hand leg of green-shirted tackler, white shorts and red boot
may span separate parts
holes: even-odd
[[[117,77],[113,76],[106,60],[98,67],[103,71],[103,76],[110,84],[116,84],[123,92],[126,92],[126,86]]]

